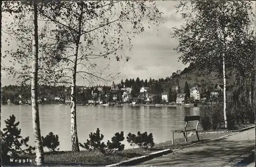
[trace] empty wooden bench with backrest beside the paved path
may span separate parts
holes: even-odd
[[[185,142],[187,143],[187,131],[196,131],[196,133],[197,133],[197,138],[198,138],[198,141],[199,141],[199,135],[198,135],[198,131],[197,131],[198,124],[199,124],[199,120],[200,120],[200,116],[186,116],[186,117],[184,118],[184,121],[186,122],[184,129],[183,129],[183,130],[172,130],[172,141],[173,141],[173,145],[174,145],[174,132],[183,133],[183,135],[184,135],[184,137],[185,137]],[[195,129],[186,129],[187,123],[188,123],[189,121],[198,121]]]

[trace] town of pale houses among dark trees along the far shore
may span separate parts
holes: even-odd
[[[78,105],[190,105],[202,104],[221,101],[223,98],[223,84],[215,84],[214,87],[201,85],[197,82],[191,86],[187,81],[185,86],[181,87],[179,78],[186,72],[186,69],[178,70],[172,76],[158,80],[151,79],[147,81],[137,78],[121,80],[115,84],[113,81],[111,86],[95,86],[95,87],[77,87],[77,104]],[[164,90],[164,83],[168,80],[175,80],[175,84],[169,85]],[[15,87],[16,89],[13,89]],[[70,87],[59,86],[51,87],[46,91],[40,87],[38,104],[60,104],[70,105]],[[8,89],[16,90],[7,93]],[[181,89],[182,88],[182,89]],[[2,104],[7,105],[30,105],[30,94],[25,93],[29,86],[6,86],[2,88]],[[27,90],[29,92],[29,90]]]

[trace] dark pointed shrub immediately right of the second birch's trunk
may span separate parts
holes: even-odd
[[[96,133],[89,134],[90,140],[87,140],[87,143],[79,143],[79,146],[87,150],[102,150],[105,148],[103,140],[104,135],[100,134],[99,128],[97,128]]]

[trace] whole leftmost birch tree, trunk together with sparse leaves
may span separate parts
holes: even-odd
[[[15,19],[13,22],[8,22],[6,25],[6,33],[9,39],[6,42],[11,43],[15,41],[17,47],[13,50],[5,51],[4,58],[7,56],[13,66],[4,67],[3,69],[11,75],[16,77],[23,84],[31,81],[31,103],[32,103],[32,125],[34,131],[34,141],[36,148],[36,165],[42,165],[44,162],[44,151],[42,147],[40,134],[40,121],[38,109],[38,15],[37,2],[5,2],[5,14],[10,14]],[[31,23],[31,24],[30,24]],[[2,28],[2,27],[1,27]],[[40,33],[44,33],[44,30]],[[40,36],[41,37],[41,36]],[[15,44],[15,43],[13,43]],[[57,52],[56,52],[57,53]],[[56,54],[58,55],[58,54]],[[42,57],[42,59],[46,59]],[[47,58],[44,61],[45,65],[52,65],[56,63],[54,59]],[[42,61],[41,61],[42,62]],[[52,62],[52,63],[51,63]],[[18,68],[20,66],[20,68]],[[39,67],[42,67],[39,66]],[[47,67],[47,66],[46,66]],[[52,67],[53,68],[53,67]],[[45,75],[45,73],[41,73]]]

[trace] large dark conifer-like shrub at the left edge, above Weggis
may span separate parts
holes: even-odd
[[[15,122],[14,115],[5,120],[6,128],[1,131],[1,156],[17,157],[22,154],[31,154],[35,150],[29,146],[29,136],[23,138],[20,135],[21,129],[18,129],[19,122]],[[24,149],[26,148],[26,149]]]

